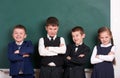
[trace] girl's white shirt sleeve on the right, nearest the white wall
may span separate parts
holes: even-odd
[[[112,55],[99,55],[99,59],[102,59],[104,61],[113,61],[113,59],[115,58],[115,46],[113,46],[111,48],[111,51],[110,52],[113,52],[114,54]]]

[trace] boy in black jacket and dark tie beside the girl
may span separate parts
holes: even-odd
[[[68,45],[65,55],[64,78],[86,78],[84,65],[87,62],[87,55],[90,48],[84,44],[84,29],[76,26],[71,31],[74,44]]]

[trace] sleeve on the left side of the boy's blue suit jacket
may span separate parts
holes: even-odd
[[[20,54],[14,54],[13,45],[11,45],[11,44],[8,44],[8,59],[10,61],[23,60],[22,55],[20,55]]]

